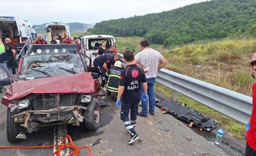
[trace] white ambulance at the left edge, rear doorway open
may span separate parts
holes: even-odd
[[[13,48],[21,42],[21,37],[37,38],[34,26],[28,21],[16,19],[15,17],[0,16],[0,39],[10,38]]]

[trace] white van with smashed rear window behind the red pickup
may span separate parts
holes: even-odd
[[[97,57],[98,54],[98,48],[100,45],[102,45],[102,41],[106,41],[107,49],[110,48],[112,45],[116,45],[115,38],[111,35],[86,35],[79,37],[81,39],[81,47],[84,47],[84,54],[91,57],[91,60],[93,60]],[[82,41],[83,40],[83,41]],[[83,45],[83,46],[82,46]],[[89,60],[86,59],[86,64],[89,63]],[[92,64],[92,69],[94,69],[94,66]]]

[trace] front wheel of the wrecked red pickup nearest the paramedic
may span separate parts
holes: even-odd
[[[101,121],[101,110],[99,101],[96,98],[92,99],[92,102],[87,105],[87,109],[84,110],[84,126],[89,131],[98,130]]]

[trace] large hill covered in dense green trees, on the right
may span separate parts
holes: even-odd
[[[256,24],[255,0],[211,0],[161,13],[97,23],[92,31],[118,37],[140,36],[164,46],[238,36]]]

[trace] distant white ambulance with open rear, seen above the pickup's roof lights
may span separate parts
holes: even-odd
[[[46,31],[46,28],[48,28],[50,31]],[[56,38],[57,43],[62,44],[62,40],[65,39],[66,35],[70,36],[70,30],[69,30],[69,24],[63,24],[61,22],[50,22],[45,24],[45,40],[49,44],[52,37],[56,35],[58,38]]]

